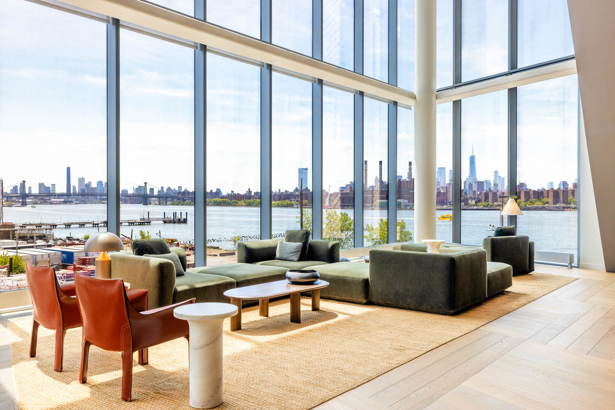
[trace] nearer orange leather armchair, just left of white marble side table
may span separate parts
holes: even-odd
[[[178,337],[188,339],[188,321],[174,317],[173,309],[194,303],[196,299],[138,312],[127,298],[121,279],[97,279],[76,274],[75,285],[83,320],[79,379],[82,383],[87,381],[91,344],[122,352],[122,400],[130,401],[133,353],[138,351],[138,363],[147,365],[148,347]]]

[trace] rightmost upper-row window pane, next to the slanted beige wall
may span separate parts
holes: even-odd
[[[519,67],[574,54],[566,0],[517,0],[517,27]]]

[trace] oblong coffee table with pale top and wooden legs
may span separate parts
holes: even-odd
[[[237,315],[231,317],[231,331],[241,329],[242,299],[258,299],[258,314],[269,317],[269,298],[290,294],[290,321],[301,323],[301,292],[312,291],[312,310],[320,310],[320,288],[329,286],[329,282],[317,280],[312,285],[292,285],[287,280],[261,283],[244,288],[229,289],[224,296],[231,298],[231,304],[237,306]]]

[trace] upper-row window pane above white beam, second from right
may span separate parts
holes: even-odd
[[[508,0],[461,1],[461,81],[508,69]]]

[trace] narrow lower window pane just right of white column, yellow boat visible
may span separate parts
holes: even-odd
[[[435,234],[453,240],[453,103],[435,106]]]

